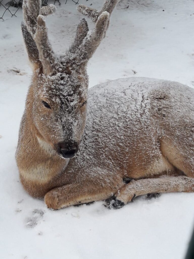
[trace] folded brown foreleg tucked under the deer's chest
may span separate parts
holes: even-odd
[[[97,200],[105,200],[123,186],[121,179],[117,187],[97,188],[95,183],[73,183],[50,190],[44,196],[48,208],[58,210],[72,205],[89,203]]]

